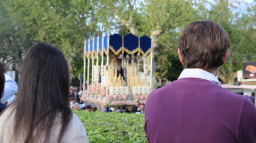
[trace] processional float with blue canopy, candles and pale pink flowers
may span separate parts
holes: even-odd
[[[99,105],[145,103],[152,90],[152,56],[151,38],[145,35],[104,34],[85,40],[83,85],[87,58],[88,86],[81,99]]]

